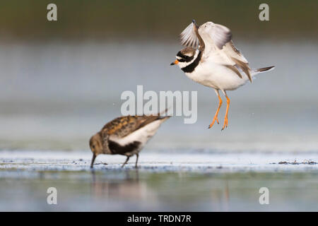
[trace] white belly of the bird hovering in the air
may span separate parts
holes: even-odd
[[[185,74],[196,83],[217,90],[236,90],[248,81],[245,73],[242,73],[243,78],[240,78],[231,69],[211,62],[203,62],[192,73]]]

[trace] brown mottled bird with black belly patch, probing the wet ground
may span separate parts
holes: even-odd
[[[155,135],[160,124],[170,116],[142,115],[124,116],[108,122],[101,131],[90,138],[90,150],[93,152],[90,168],[93,168],[95,158],[100,154],[126,155],[129,157],[136,155],[136,165],[139,152],[147,141]]]

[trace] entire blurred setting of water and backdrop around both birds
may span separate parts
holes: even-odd
[[[1,1],[0,210],[317,210],[317,11],[317,0]],[[207,129],[214,91],[170,66],[192,19],[230,28],[252,67],[276,66],[228,92],[222,132],[225,105]],[[197,91],[198,120],[163,124],[140,170],[103,155],[90,171],[90,136],[137,85]],[[46,203],[50,186],[57,206]],[[259,204],[263,186],[271,205]]]

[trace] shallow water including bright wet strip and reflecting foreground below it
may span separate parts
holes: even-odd
[[[83,151],[0,153],[0,210],[317,211],[317,153],[143,152],[98,156]],[[278,164],[279,162],[300,164]],[[108,165],[102,163],[107,162]],[[47,189],[57,189],[57,205]],[[259,189],[269,189],[269,205]]]

